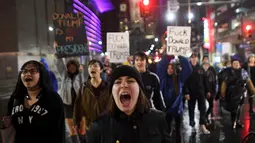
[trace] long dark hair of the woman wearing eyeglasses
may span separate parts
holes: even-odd
[[[40,73],[39,83],[38,83],[39,87],[41,89],[53,90],[49,73],[47,69],[43,66],[43,64],[39,63],[38,61],[31,60],[23,64],[21,67],[21,70],[24,70],[24,68],[29,64],[33,64],[38,70],[38,72]],[[14,96],[17,99],[23,99],[26,94],[27,94],[27,88],[25,87],[25,85],[23,84],[21,80],[21,71],[20,71],[18,74],[18,81],[16,83],[16,87],[14,92],[12,93],[12,96]]]

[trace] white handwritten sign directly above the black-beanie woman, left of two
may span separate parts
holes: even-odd
[[[107,33],[107,54],[112,63],[122,63],[129,56],[129,33]]]

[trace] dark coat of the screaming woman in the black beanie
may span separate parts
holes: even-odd
[[[91,124],[86,143],[171,143],[165,116],[151,109],[149,113],[121,111],[105,115]]]

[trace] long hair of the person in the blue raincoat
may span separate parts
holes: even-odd
[[[173,68],[173,74],[172,74],[172,77],[173,77],[173,84],[174,84],[174,91],[176,93],[176,96],[179,95],[180,93],[180,87],[179,87],[179,74],[177,73],[177,69],[176,69],[176,66],[174,63],[169,63],[168,64],[168,67],[171,66]],[[167,68],[168,68],[167,67]],[[168,78],[167,78],[167,89],[169,88],[169,85],[168,85]]]

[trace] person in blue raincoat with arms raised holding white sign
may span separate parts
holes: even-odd
[[[164,56],[160,62],[168,63],[166,67],[158,66],[160,70],[166,72],[165,78],[163,78],[160,83],[160,88],[166,104],[166,120],[170,129],[172,129],[173,119],[175,120],[176,143],[182,143],[182,87],[185,80],[192,73],[192,68],[188,59],[182,56],[179,56],[179,62],[170,62],[167,56]]]

